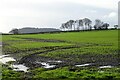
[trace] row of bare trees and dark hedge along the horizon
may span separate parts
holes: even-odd
[[[84,19],[79,19],[79,20],[69,20],[65,23],[62,23],[62,25],[60,26],[60,29],[62,30],[57,30],[56,31],[47,31],[47,32],[43,32],[43,31],[39,31],[39,32],[34,32],[32,33],[30,30],[30,33],[21,33],[20,29],[12,29],[9,33],[11,34],[36,34],[36,33],[56,33],[56,32],[74,32],[74,31],[87,31],[87,30],[107,30],[108,27],[110,26],[108,23],[105,23],[103,21],[101,21],[100,19],[96,19],[95,20],[95,24],[92,26],[92,21],[89,18],[84,18]],[[33,28],[34,29],[34,28]],[[119,29],[118,25],[114,25],[113,29]],[[37,30],[35,30],[37,31]]]

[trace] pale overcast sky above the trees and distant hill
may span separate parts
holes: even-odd
[[[118,24],[119,0],[0,0],[0,32],[13,28],[59,28],[70,19]]]

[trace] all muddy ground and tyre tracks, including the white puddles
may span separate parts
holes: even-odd
[[[38,41],[38,42],[66,42],[62,40],[52,40],[52,39],[32,39],[32,38],[22,38],[22,39],[26,39],[30,41]],[[66,42],[66,43],[72,43],[72,42]],[[61,58],[55,58],[55,57],[53,58],[53,57],[46,57],[39,55],[39,54],[47,54],[48,52],[53,52],[57,50],[80,48],[81,46],[95,46],[95,45],[99,46],[98,44],[85,44],[85,45],[83,44],[80,45],[77,43],[74,44],[75,45],[64,46],[64,47],[54,46],[54,47],[42,47],[42,48],[30,49],[27,51],[20,50],[15,52],[15,54],[10,53],[10,55],[1,55],[0,61],[3,64],[6,64],[6,62],[9,61],[15,61],[15,63],[11,66],[13,70],[16,71],[22,70],[25,72],[28,69],[38,68],[38,67],[48,68],[48,69],[54,69],[64,66],[75,66],[75,67],[95,66],[98,68],[112,68],[114,66],[120,65],[120,57],[118,57],[118,54],[97,54],[97,55],[80,54],[80,55],[67,55],[67,57],[63,56]],[[108,46],[108,45],[104,45],[104,46]],[[27,53],[28,51],[34,51],[40,49],[43,49],[44,51],[28,54],[22,57],[18,56],[19,54],[21,55],[23,53]],[[75,60],[76,58],[78,58],[78,60]]]

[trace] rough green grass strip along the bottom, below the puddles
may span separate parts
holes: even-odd
[[[77,68],[77,67],[63,67],[57,68],[54,70],[48,70],[44,68],[36,68],[34,70],[30,70],[30,73],[16,72],[9,70],[7,68],[3,68],[2,80],[9,79],[82,79],[82,80],[119,80],[120,78],[120,68],[112,68],[112,69],[97,69],[97,68]],[[27,76],[26,76],[27,75]]]

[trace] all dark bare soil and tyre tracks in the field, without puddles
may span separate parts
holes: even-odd
[[[20,38],[20,37],[17,37]],[[67,41],[62,41],[62,40],[52,40],[52,39],[33,39],[33,38],[21,38],[21,39],[26,39],[28,41],[37,41],[37,42],[65,42],[65,43],[72,43],[72,42],[67,42]],[[46,62],[49,64],[55,64],[56,67],[63,67],[63,66],[75,66],[75,65],[81,65],[81,64],[86,64],[86,63],[92,63],[91,66],[102,66],[102,65],[111,65],[111,66],[119,66],[120,65],[120,57],[118,57],[118,54],[80,54],[80,55],[61,55],[60,58],[58,57],[45,57],[45,56],[40,56],[39,54],[47,54],[48,52],[53,52],[57,50],[63,50],[63,49],[72,49],[72,48],[80,48],[80,47],[87,47],[87,46],[112,46],[112,44],[107,45],[107,44],[78,44],[78,43],[73,43],[74,45],[72,46],[53,46],[53,47],[41,47],[41,48],[31,48],[31,49],[25,49],[25,50],[16,50],[14,52],[9,52],[10,54],[15,53],[27,53],[29,51],[36,51],[36,50],[43,50],[39,52],[35,52],[32,54],[27,54],[26,56],[21,57],[18,60],[18,64],[25,64],[25,66],[30,67],[30,68],[36,68],[36,67],[41,67],[42,65],[36,62]],[[5,45],[5,44],[4,44]],[[48,61],[62,61],[61,63],[58,62],[48,62]]]

